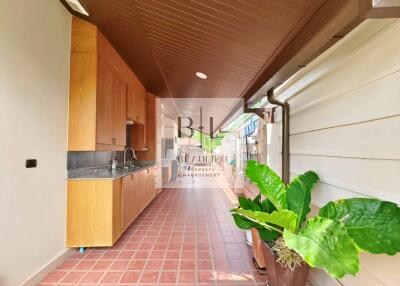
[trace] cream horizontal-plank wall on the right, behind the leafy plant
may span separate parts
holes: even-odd
[[[313,203],[377,197],[400,204],[400,21],[370,20],[278,90],[291,105],[291,175],[315,170]],[[280,171],[280,124],[272,127],[269,163]],[[400,255],[361,256],[346,286],[395,286]],[[339,285],[322,271],[314,285]]]

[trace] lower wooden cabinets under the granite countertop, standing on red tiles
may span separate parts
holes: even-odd
[[[67,247],[112,246],[154,199],[155,168],[67,183]]]

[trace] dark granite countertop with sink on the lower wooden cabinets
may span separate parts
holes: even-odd
[[[77,169],[68,172],[67,180],[114,180],[153,166],[155,163],[130,166],[127,169],[118,167],[115,170],[112,170],[110,166]]]

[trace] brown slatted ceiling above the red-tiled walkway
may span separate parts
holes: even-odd
[[[191,98],[241,97],[324,1],[80,2],[148,90]]]

